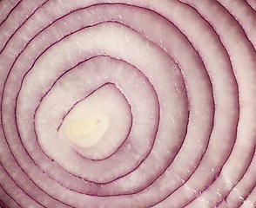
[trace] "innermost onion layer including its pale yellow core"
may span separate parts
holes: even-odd
[[[117,151],[131,130],[125,96],[107,83],[72,107],[58,135],[88,159],[105,159]]]

